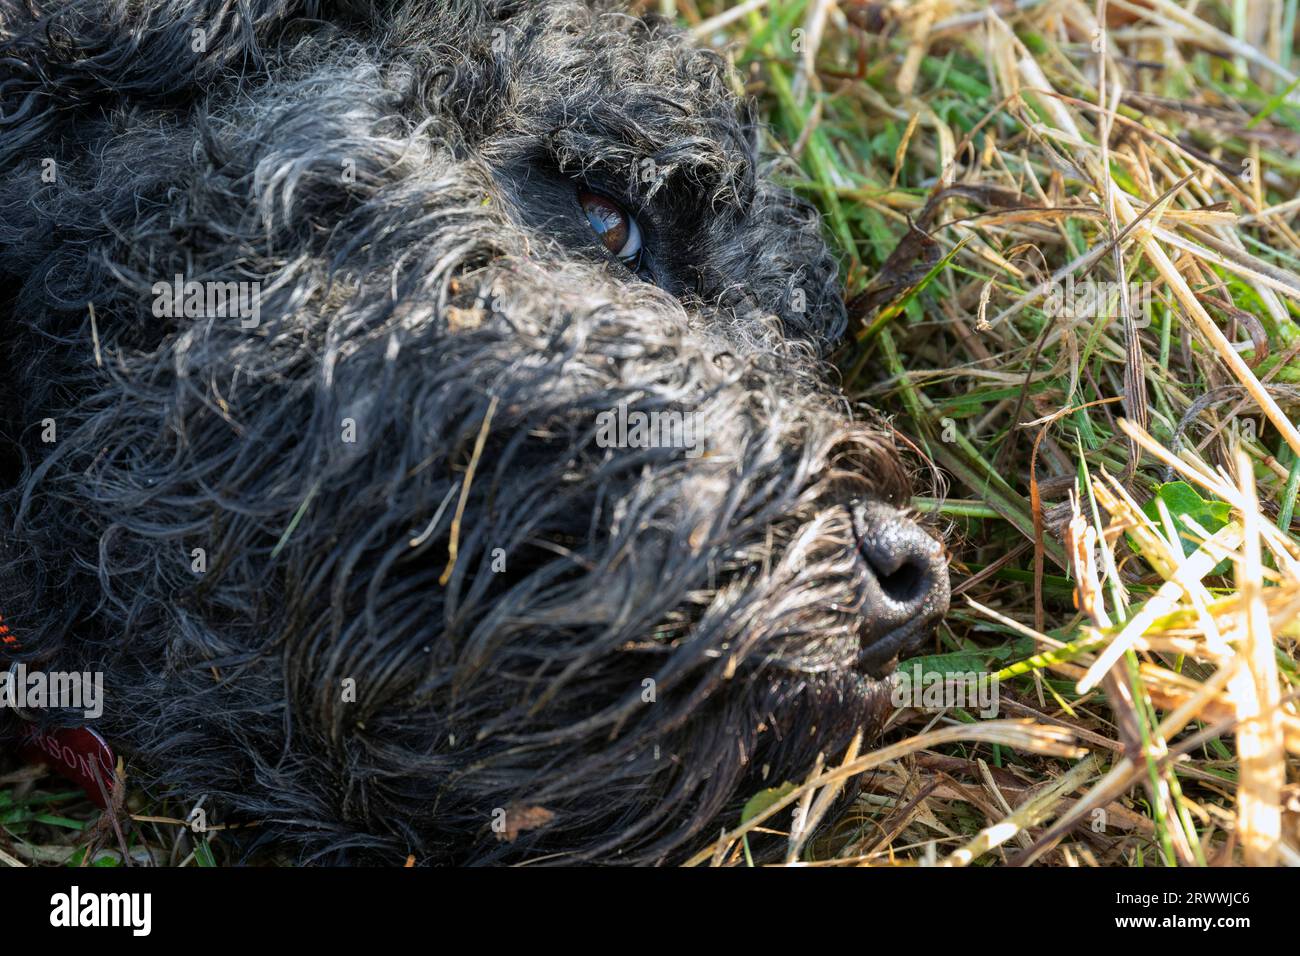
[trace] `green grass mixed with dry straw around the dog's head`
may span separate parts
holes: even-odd
[[[845,388],[952,554],[918,666],[1000,679],[998,719],[901,710],[693,862],[1300,862],[1297,0],[641,7],[733,59],[826,216]],[[32,773],[0,862],[120,862]],[[221,858],[127,809],[133,853]]]

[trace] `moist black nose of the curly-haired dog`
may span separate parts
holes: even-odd
[[[948,611],[948,561],[933,537],[879,502],[854,510],[862,558],[862,658],[868,671],[920,646]]]

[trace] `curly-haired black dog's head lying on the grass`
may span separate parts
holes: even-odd
[[[716,55],[572,0],[0,40],[8,659],[101,671],[133,773],[304,858],[658,862],[879,726],[946,568]]]

